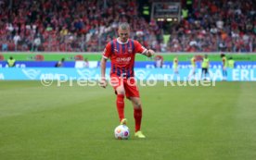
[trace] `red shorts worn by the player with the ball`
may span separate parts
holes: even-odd
[[[123,79],[122,77],[113,76],[110,78],[110,84],[114,88],[115,92],[117,87],[123,86],[125,91],[125,96],[127,98],[139,97],[139,91],[138,91],[136,80],[134,77]]]

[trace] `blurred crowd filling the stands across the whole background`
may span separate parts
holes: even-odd
[[[131,38],[157,52],[256,52],[253,1],[199,2],[163,30],[136,0],[0,0],[0,49],[100,52],[127,21]]]

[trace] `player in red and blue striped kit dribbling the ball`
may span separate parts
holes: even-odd
[[[126,22],[120,23],[118,29],[119,37],[109,42],[101,58],[101,80],[100,85],[107,87],[105,78],[106,62],[111,61],[110,84],[114,88],[117,99],[116,106],[120,123],[126,125],[124,117],[124,95],[134,106],[135,137],[146,138],[141,131],[142,105],[140,95],[134,80],[134,57],[136,53],[151,57],[154,51],[146,49],[137,41],[129,38],[130,25]]]

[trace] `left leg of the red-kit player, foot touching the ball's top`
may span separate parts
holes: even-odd
[[[123,87],[123,80],[118,77],[111,78],[111,85],[115,90],[117,95],[116,99],[116,106],[119,115],[120,122],[122,124],[126,124],[126,119],[124,118],[124,87]]]

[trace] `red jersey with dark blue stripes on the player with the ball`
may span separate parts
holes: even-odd
[[[144,46],[132,39],[128,39],[126,43],[118,39],[109,42],[103,52],[103,57],[111,61],[110,76],[134,77],[135,54],[143,54],[146,51]]]

